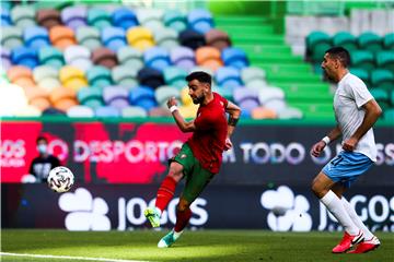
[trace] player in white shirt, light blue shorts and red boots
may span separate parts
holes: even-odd
[[[366,84],[349,73],[349,52],[343,47],[333,47],[324,56],[323,70],[338,83],[334,95],[337,126],[311,150],[311,154],[317,157],[331,141],[343,136],[343,151],[312,182],[312,191],[345,229],[344,238],[333,253],[347,252],[356,245],[357,248],[350,253],[364,253],[380,246],[379,239],[341,196],[351,182],[376,162],[372,126],[382,114]]]

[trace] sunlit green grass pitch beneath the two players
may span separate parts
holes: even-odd
[[[66,231],[3,229],[1,252],[103,258],[108,261],[394,261],[394,234],[376,233],[382,246],[366,254],[332,254],[340,233],[264,230],[186,230],[169,249],[158,249],[166,234],[154,230]],[[1,255],[1,261],[86,261]],[[102,260],[104,261],[104,260]]]

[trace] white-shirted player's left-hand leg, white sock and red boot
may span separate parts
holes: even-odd
[[[333,249],[333,253],[343,253],[348,251],[354,245],[361,242],[364,236],[346,212],[341,200],[331,190],[334,184],[335,181],[324,172],[320,172],[313,180],[312,191],[345,228],[344,238]]]

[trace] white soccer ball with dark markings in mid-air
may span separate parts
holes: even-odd
[[[47,181],[51,190],[62,193],[70,190],[74,182],[74,177],[70,169],[63,166],[58,166],[49,171]]]

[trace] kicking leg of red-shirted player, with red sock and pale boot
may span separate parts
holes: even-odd
[[[164,178],[161,183],[158,193],[154,207],[148,207],[144,211],[144,216],[149,219],[152,227],[160,226],[160,216],[172,200],[175,193],[176,184],[183,177],[183,166],[179,163],[172,162],[170,165],[169,175]]]

